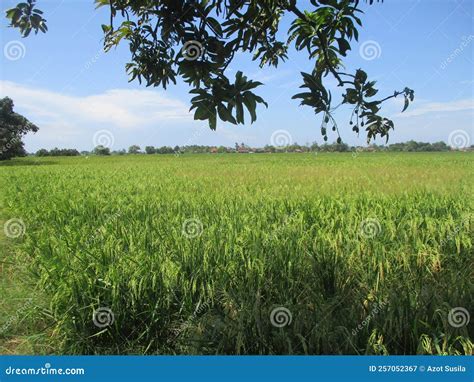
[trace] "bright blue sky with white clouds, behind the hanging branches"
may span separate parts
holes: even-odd
[[[17,2],[2,1],[2,13]],[[25,138],[28,151],[56,146],[90,150],[98,141],[112,149],[131,144],[263,146],[281,130],[292,142],[323,142],[321,117],[291,99],[301,84],[299,72],[312,67],[305,52],[290,52],[278,69],[260,69],[249,56],[238,54],[229,75],[242,70],[263,82],[257,94],[269,107],[259,108],[254,124],[220,122],[214,132],[188,113],[187,85],[164,91],[129,83],[127,44],[102,53],[105,9],[95,10],[92,0],[38,0],[38,5],[48,21],[47,34],[22,39],[0,20],[0,96],[10,96],[16,110],[40,127]],[[385,104],[385,114],[395,122],[390,142],[449,142],[461,134],[474,144],[474,1],[385,0],[364,9],[364,28],[359,42],[352,43],[346,68],[366,70],[377,80],[379,94],[405,86],[415,90],[415,102],[403,114],[401,99]],[[335,89],[335,81],[328,80],[328,86]],[[349,109],[341,109],[337,120],[343,141],[365,144],[365,136],[357,137],[348,125]]]

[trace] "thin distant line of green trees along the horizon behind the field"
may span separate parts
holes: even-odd
[[[473,150],[474,145],[464,150]],[[108,147],[97,146],[92,151],[81,151],[76,149],[58,149],[52,150],[41,149],[36,152],[37,156],[78,156],[78,155],[125,155],[125,154],[199,154],[199,153],[306,153],[306,152],[377,152],[377,151],[393,151],[393,152],[423,152],[423,151],[451,151],[455,150],[448,146],[445,142],[416,142],[408,141],[403,143],[393,143],[387,146],[370,145],[370,146],[349,146],[345,143],[333,143],[318,145],[299,145],[297,143],[275,147],[266,145],[265,147],[253,148],[244,143],[236,143],[235,147],[225,146],[146,146],[144,150],[140,146],[132,145],[126,151],[125,149],[111,151]]]

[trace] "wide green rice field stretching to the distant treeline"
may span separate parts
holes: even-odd
[[[35,316],[54,353],[471,354],[473,169],[472,153],[10,161],[2,260],[29,282],[1,314]]]

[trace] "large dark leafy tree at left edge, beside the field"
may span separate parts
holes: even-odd
[[[38,127],[25,117],[13,111],[13,101],[0,99],[0,160],[15,156],[25,156],[23,135],[29,131],[37,132]]]

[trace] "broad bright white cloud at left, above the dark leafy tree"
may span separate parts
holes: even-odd
[[[79,97],[0,81],[0,95],[12,98],[26,116],[43,125],[137,129],[192,120],[188,105],[152,90],[111,89]]]

